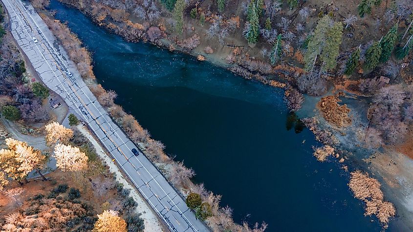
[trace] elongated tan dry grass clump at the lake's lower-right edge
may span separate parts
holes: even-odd
[[[391,202],[384,201],[380,183],[367,173],[356,170],[350,173],[349,187],[354,197],[366,203],[365,215],[376,215],[379,221],[385,224],[384,227],[387,227],[389,219],[396,214],[396,209]]]

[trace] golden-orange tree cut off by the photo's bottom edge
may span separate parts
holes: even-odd
[[[126,232],[126,222],[117,211],[106,210],[97,216],[92,232]]]

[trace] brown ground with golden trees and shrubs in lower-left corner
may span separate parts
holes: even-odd
[[[47,150],[12,138],[0,150],[2,231],[143,231],[130,190],[115,181],[91,143],[58,123],[45,131]],[[49,153],[58,169],[43,175]],[[42,178],[27,178],[33,171]]]

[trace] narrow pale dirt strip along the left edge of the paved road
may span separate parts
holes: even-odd
[[[145,231],[166,231],[162,224],[159,223],[157,215],[152,211],[152,209],[147,205],[145,199],[140,195],[138,190],[130,185],[130,183],[122,176],[122,173],[112,159],[106,154],[105,150],[100,146],[100,144],[93,138],[90,132],[83,126],[79,125],[77,128],[80,132],[93,144],[96,149],[96,153],[100,158],[109,166],[110,172],[117,173],[116,181],[122,183],[124,188],[130,189],[130,196],[133,197],[138,203],[136,207],[136,212],[141,213],[141,218],[144,219]]]

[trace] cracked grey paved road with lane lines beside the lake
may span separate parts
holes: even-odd
[[[209,231],[147,157],[131,153],[135,145],[97,102],[31,4],[21,0],[1,1],[10,16],[14,38],[43,82],[88,124],[168,228],[176,232]],[[73,77],[67,75],[67,70]]]

